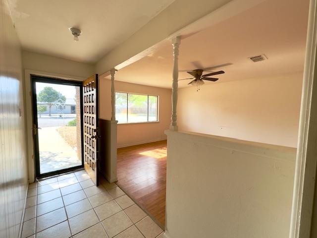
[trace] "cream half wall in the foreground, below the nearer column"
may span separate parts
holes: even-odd
[[[288,238],[295,148],[166,133],[167,238]]]

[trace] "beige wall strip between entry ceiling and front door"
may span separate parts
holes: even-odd
[[[54,74],[86,78],[95,73],[95,66],[93,64],[65,60],[28,51],[22,52],[22,61],[24,69]]]

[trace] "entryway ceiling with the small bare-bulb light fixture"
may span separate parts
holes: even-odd
[[[8,0],[25,50],[95,63],[174,0]],[[69,27],[82,30],[74,42]]]

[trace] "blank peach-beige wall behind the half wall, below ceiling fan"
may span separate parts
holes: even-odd
[[[181,88],[179,129],[297,147],[302,78],[296,73],[209,84],[198,92]]]

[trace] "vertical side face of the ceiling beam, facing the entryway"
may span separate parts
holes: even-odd
[[[230,0],[175,0],[148,24],[125,42],[110,51],[96,64],[96,71],[103,74],[110,68],[138,55],[168,38],[176,31],[218,9]]]

